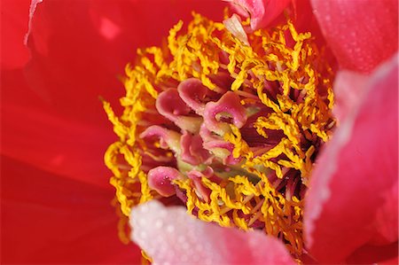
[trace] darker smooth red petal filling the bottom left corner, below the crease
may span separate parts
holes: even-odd
[[[38,170],[2,156],[1,263],[134,264],[122,245],[113,191]]]

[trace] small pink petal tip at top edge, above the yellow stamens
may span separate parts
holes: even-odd
[[[253,30],[267,27],[292,0],[230,0],[233,8],[251,18]]]

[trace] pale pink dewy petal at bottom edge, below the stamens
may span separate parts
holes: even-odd
[[[201,222],[185,211],[155,200],[133,208],[132,239],[153,264],[295,264],[276,238]]]

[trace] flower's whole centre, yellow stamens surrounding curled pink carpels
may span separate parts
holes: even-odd
[[[203,221],[264,230],[300,255],[304,193],[334,125],[332,71],[291,21],[246,35],[237,17],[193,17],[126,66],[121,117],[104,102],[121,212],[178,198]]]

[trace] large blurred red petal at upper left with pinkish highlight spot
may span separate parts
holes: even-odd
[[[205,13],[215,16],[222,7],[215,3]],[[28,18],[29,3],[25,8]],[[206,10],[196,1],[38,4],[28,40],[32,60],[24,71],[2,70],[2,153],[108,186],[102,156],[113,138],[98,96],[113,102],[120,97],[117,75],[137,47],[160,43],[178,18],[191,18],[192,9]]]

